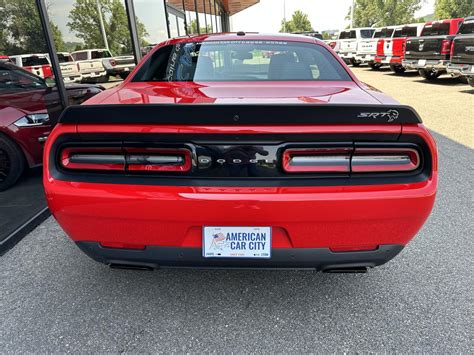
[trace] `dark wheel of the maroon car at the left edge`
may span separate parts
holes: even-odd
[[[0,135],[0,191],[13,186],[24,170],[23,152],[9,138]]]

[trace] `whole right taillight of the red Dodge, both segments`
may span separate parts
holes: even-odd
[[[420,166],[411,148],[295,148],[283,152],[287,173],[410,172]]]

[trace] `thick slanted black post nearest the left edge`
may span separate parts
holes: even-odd
[[[36,7],[41,21],[41,27],[43,28],[44,37],[46,40],[46,46],[48,47],[49,59],[51,60],[51,68],[53,69],[54,77],[56,79],[56,87],[58,89],[59,99],[63,109],[69,105],[67,97],[66,86],[64,86],[63,75],[61,73],[61,67],[59,65],[58,54],[56,53],[56,45],[54,44],[53,31],[49,24],[48,9],[44,0],[36,0]]]

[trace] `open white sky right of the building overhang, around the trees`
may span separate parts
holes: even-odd
[[[424,0],[416,17],[433,13],[434,2],[435,0]],[[293,12],[301,10],[308,14],[314,30],[323,31],[339,30],[347,26],[344,18],[352,0],[260,0],[260,3],[231,17],[233,30],[278,32],[283,19],[284,3],[287,20]]]

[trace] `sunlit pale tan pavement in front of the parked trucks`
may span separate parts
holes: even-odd
[[[413,106],[424,124],[442,135],[474,148],[474,88],[458,78],[442,75],[423,79],[415,71],[396,75],[388,68],[351,68],[363,82]]]

